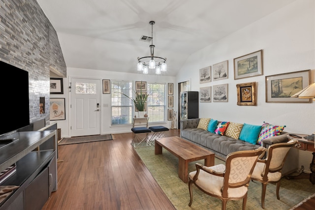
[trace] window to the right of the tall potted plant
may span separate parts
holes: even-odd
[[[149,122],[165,121],[165,84],[148,83],[148,116]]]

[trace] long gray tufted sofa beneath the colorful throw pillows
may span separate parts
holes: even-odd
[[[233,139],[225,135],[218,135],[207,130],[199,129],[197,128],[199,120],[200,119],[181,120],[181,138],[214,152],[216,157],[221,160],[225,160],[226,156],[234,151],[255,150],[261,147],[258,144],[254,145],[239,139]],[[264,139],[262,146],[268,148],[275,143],[287,142],[287,134],[288,133],[283,131],[281,135]],[[294,158],[297,151],[295,150],[296,149],[291,148],[289,151],[286,163],[284,164],[283,175],[292,173],[297,169],[297,161],[295,160],[296,158]]]

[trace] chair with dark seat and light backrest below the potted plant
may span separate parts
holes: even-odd
[[[134,148],[151,146],[148,128],[149,118],[133,118],[131,131],[133,132],[131,145]]]

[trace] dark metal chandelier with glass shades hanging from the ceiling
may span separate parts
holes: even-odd
[[[150,53],[151,56],[138,57],[138,71],[143,71],[144,74],[148,74],[148,68],[156,69],[156,74],[161,74],[161,71],[166,71],[166,58],[156,57],[154,56],[154,48],[153,45],[153,25],[156,23],[154,21],[149,22],[152,30],[151,30],[151,45],[150,45]]]

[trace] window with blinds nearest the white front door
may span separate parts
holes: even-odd
[[[132,82],[111,82],[112,125],[132,123],[133,102],[122,93],[132,98]]]

